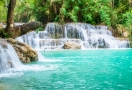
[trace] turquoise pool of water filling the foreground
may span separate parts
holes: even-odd
[[[20,68],[7,77],[0,77],[0,90],[132,89],[132,49],[61,50],[40,54],[44,59],[25,65],[28,69]]]

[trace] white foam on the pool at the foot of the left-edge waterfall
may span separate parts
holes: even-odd
[[[17,68],[11,68],[6,70],[0,74],[0,78],[3,77],[14,77],[14,76],[21,76],[24,74],[25,71],[46,71],[46,70],[56,70],[59,65],[21,65]]]

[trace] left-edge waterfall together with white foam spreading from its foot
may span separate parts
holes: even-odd
[[[39,53],[38,53],[39,54]],[[39,59],[44,58],[39,54]],[[39,60],[40,61],[40,60]],[[0,39],[0,78],[23,75],[22,71],[53,70],[56,66],[23,65],[14,48],[4,39]]]

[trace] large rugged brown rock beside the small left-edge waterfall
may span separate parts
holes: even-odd
[[[16,41],[12,38],[7,39],[7,42],[9,42],[14,47],[20,60],[23,63],[28,63],[38,60],[37,52],[33,50],[29,45]]]

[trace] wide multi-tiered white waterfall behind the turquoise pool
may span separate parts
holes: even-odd
[[[16,38],[34,49],[63,49],[65,42],[75,42],[88,48],[129,48],[129,41],[120,41],[112,36],[106,26],[86,23],[47,24],[44,31],[30,32]]]

